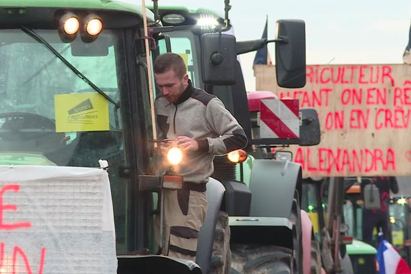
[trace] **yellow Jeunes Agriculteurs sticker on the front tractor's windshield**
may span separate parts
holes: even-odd
[[[54,95],[55,132],[110,130],[108,101],[98,93]]]

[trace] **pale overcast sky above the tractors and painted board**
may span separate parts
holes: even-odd
[[[224,0],[158,0],[158,4],[224,14]],[[398,64],[408,44],[411,0],[231,0],[230,5],[238,41],[261,38],[266,16],[269,39],[275,38],[275,21],[305,21],[307,64]],[[274,58],[274,45],[269,45],[269,52]],[[254,55],[241,55],[247,90],[255,90]]]

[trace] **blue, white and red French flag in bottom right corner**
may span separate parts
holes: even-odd
[[[377,260],[379,274],[411,274],[406,261],[399,256],[397,250],[389,242],[384,240],[382,233],[379,233]]]

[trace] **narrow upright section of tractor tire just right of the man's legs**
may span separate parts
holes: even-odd
[[[212,256],[210,274],[229,274],[231,269],[232,253],[229,249],[230,230],[228,225],[228,214],[220,211],[217,216],[214,242],[212,245]]]

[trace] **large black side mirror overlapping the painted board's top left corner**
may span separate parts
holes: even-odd
[[[306,24],[301,20],[277,21],[275,73],[282,88],[306,86]]]

